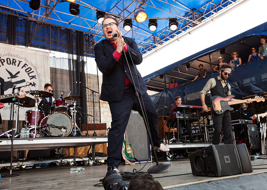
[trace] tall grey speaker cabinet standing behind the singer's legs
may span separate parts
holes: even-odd
[[[142,116],[138,111],[131,111],[131,115],[126,127],[129,143],[132,144],[134,157],[141,161],[149,159],[149,141],[146,126]]]

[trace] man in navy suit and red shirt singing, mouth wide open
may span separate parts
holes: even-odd
[[[137,44],[134,39],[125,37],[128,46],[126,45],[120,31],[119,21],[110,16],[105,17],[102,28],[106,39],[97,43],[94,51],[97,66],[103,74],[100,99],[108,101],[112,116],[111,129],[108,135],[107,166],[108,171],[119,171],[118,165],[120,163],[124,132],[131,110],[137,110],[141,114],[133,82],[139,93],[141,104],[142,106],[144,105],[143,110],[146,108],[145,112],[147,114],[153,144],[159,147],[161,151],[169,151],[169,148],[161,144],[158,133],[157,112],[151,98],[147,94],[147,87],[136,68],[136,65],[139,65],[143,61]],[[114,32],[120,35],[112,37],[112,33]],[[123,49],[126,53],[134,81],[130,77],[126,58],[123,55]],[[136,70],[137,76],[134,70]]]

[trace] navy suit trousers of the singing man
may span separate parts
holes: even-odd
[[[143,107],[144,103],[144,107],[146,108],[146,110],[144,110],[143,107],[143,110],[144,113],[147,114],[147,122],[150,128],[152,142],[155,146],[160,146],[158,113],[148,94],[145,93],[142,97],[143,101],[139,94],[141,105]],[[119,165],[120,163],[124,132],[128,124],[131,110],[136,110],[142,115],[134,89],[125,89],[122,99],[118,102],[109,102],[109,107],[112,122],[111,129],[108,133],[107,166]]]

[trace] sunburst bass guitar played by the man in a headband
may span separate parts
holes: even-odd
[[[217,114],[222,114],[226,110],[232,111],[233,108],[230,105],[234,104],[241,104],[247,102],[247,100],[238,100],[238,101],[231,101],[234,95],[229,95],[227,97],[220,97],[220,96],[213,96],[211,98],[212,108]],[[263,97],[255,96],[255,98],[251,99],[251,101],[265,101]]]

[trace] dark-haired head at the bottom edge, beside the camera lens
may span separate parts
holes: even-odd
[[[163,190],[161,184],[151,175],[138,174],[134,175],[129,183],[128,190]]]

